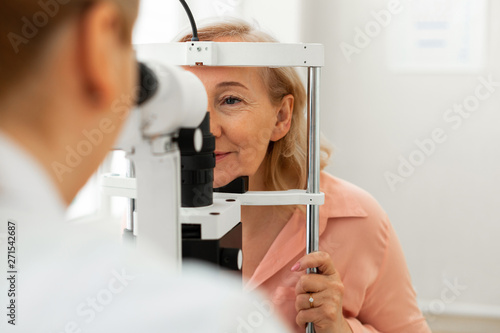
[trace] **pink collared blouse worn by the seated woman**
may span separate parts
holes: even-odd
[[[354,333],[429,333],[417,306],[403,251],[386,213],[364,190],[325,172],[320,207],[321,251],[328,252],[344,283],[343,313]],[[291,267],[305,255],[306,216],[297,209],[246,285],[267,292],[274,310],[294,332],[295,284]]]

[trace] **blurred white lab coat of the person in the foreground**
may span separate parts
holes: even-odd
[[[0,133],[0,332],[287,331],[240,281],[200,266],[180,276],[153,252],[127,248],[101,224],[68,224],[64,213],[45,172]]]

